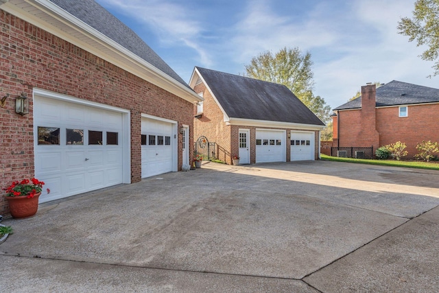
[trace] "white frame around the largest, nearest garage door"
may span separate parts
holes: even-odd
[[[77,97],[71,97],[69,95],[63,95],[61,93],[54,93],[43,89],[34,88],[32,93],[35,101],[35,97],[47,97],[49,99],[57,99],[59,101],[70,102],[73,104],[80,104],[84,106],[90,106],[94,108],[100,108],[104,110],[112,110],[122,114],[122,145],[123,145],[123,183],[131,183],[131,128],[130,128],[130,110],[109,106],[106,104],[100,104],[97,102],[87,101],[86,99],[78,99]],[[34,104],[35,106],[35,104]],[[35,113],[35,110],[34,110]],[[34,117],[35,121],[35,117]],[[37,125],[34,123],[34,148],[38,143],[38,131],[36,131]],[[34,158],[35,162],[35,158]]]

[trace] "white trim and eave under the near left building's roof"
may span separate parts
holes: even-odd
[[[133,54],[130,50],[122,47],[114,40],[111,40],[104,34],[95,30],[90,25],[87,25],[83,21],[80,21],[80,19],[76,18],[72,14],[69,14],[69,12],[62,10],[62,8],[60,8],[58,5],[51,3],[47,0],[25,0],[22,2],[33,5],[35,8],[40,10],[40,12],[44,12],[56,21],[60,21],[64,25],[71,27],[73,30],[80,32],[89,40],[92,40],[96,43],[99,43],[99,45],[103,45],[107,49],[110,49],[112,53],[123,58],[123,61],[125,62],[117,60],[115,56],[111,56],[110,54],[96,49],[95,47],[83,42],[82,40],[79,40],[78,38],[74,38],[73,36],[66,34],[66,32],[60,30],[59,27],[54,27],[54,25],[43,21],[38,16],[29,14],[28,12],[21,10],[19,7],[12,4],[11,2],[5,3],[5,5],[1,5],[1,9],[10,14],[18,16],[19,18],[29,23],[32,23],[33,25],[36,25],[37,27],[40,27],[41,29],[51,34],[54,34],[55,36],[58,36],[63,40],[67,40],[69,43],[77,45],[78,47],[90,52],[91,54],[94,54],[95,56],[98,56],[99,58],[102,58],[112,63],[113,65],[116,65],[117,67],[120,67],[121,69],[137,75],[139,76],[139,78],[142,78],[147,82],[151,82],[152,84],[155,84],[156,86],[159,86],[162,89],[169,91],[169,93],[173,93],[174,95],[177,95],[178,97],[185,99],[188,102],[193,103],[202,100],[195,92],[191,91],[191,89],[189,89],[184,84],[181,84],[180,82],[174,80],[174,78],[171,78],[166,73],[163,73],[163,71],[157,69],[136,54]],[[135,69],[134,67],[139,67],[139,69]]]

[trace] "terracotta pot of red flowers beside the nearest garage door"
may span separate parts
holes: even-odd
[[[14,181],[6,187],[5,199],[8,200],[9,209],[14,218],[27,218],[36,214],[38,210],[38,196],[43,189],[43,181],[36,178]],[[49,189],[47,189],[49,191]]]

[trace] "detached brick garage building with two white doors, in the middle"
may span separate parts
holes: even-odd
[[[315,160],[324,123],[286,86],[195,67],[191,88],[204,97],[194,107],[194,140],[215,142],[215,156],[240,164]]]

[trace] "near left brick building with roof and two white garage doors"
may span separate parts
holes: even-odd
[[[1,0],[0,23],[1,188],[35,176],[46,202],[189,163],[202,98],[102,6]]]

